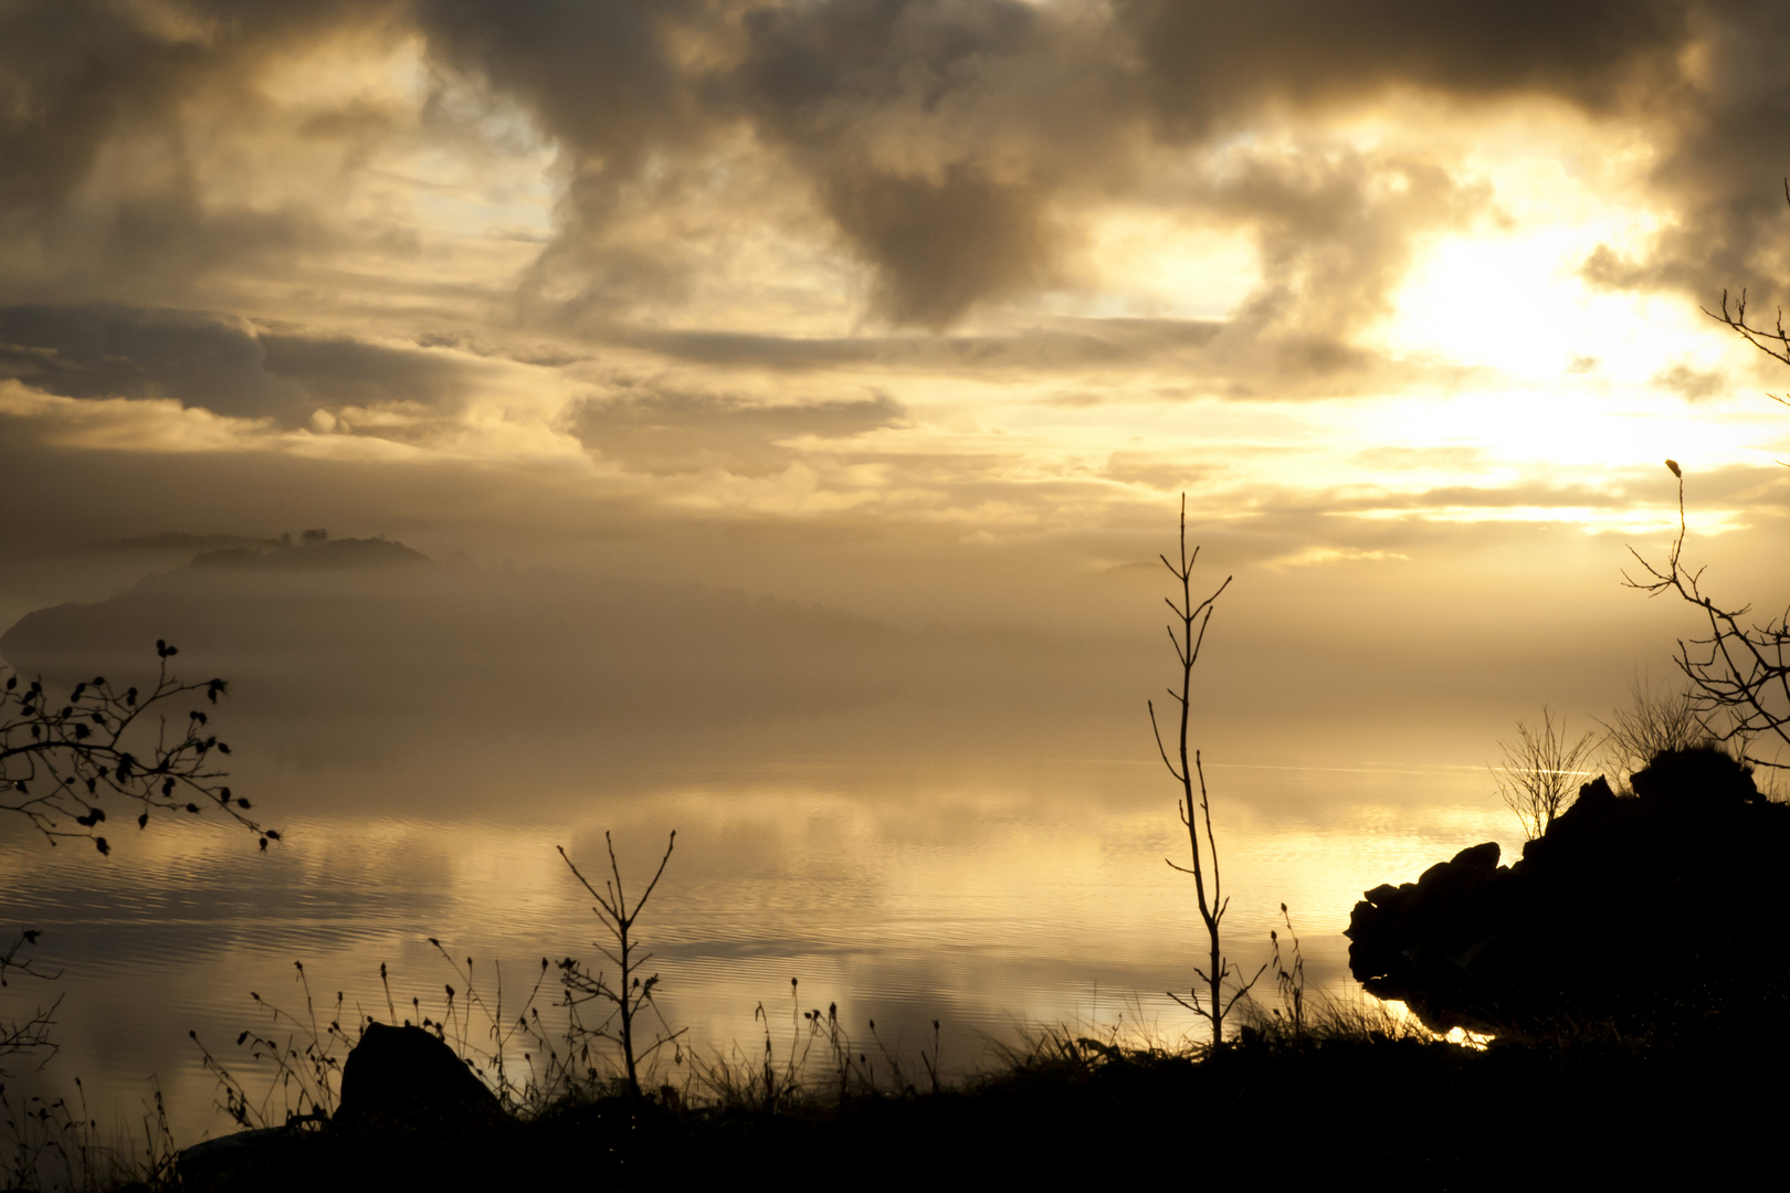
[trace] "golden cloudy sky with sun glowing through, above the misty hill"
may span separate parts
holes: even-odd
[[[1790,590],[1786,109],[1777,4],[0,4],[0,621],[328,528],[1135,733],[1185,492],[1215,723],[1489,751],[1695,630],[1665,458]]]

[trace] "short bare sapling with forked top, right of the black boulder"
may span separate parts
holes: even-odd
[[[566,986],[566,1005],[573,1012],[575,1030],[582,1030],[584,1034],[598,1039],[607,1039],[621,1048],[626,1091],[628,1096],[637,1098],[641,1096],[641,1062],[648,1061],[666,1045],[673,1045],[680,1036],[684,1036],[684,1032],[689,1030],[678,1028],[673,1032],[664,1021],[664,1016],[659,1014],[659,1003],[653,1002],[653,987],[659,986],[659,975],[655,973],[644,980],[639,977],[641,969],[653,959],[653,955],[637,955],[639,941],[634,939],[634,923],[639,919],[641,910],[646,907],[646,900],[653,896],[653,889],[666,873],[666,862],[671,860],[671,850],[677,844],[677,832],[673,832],[671,839],[666,842],[666,853],[659,859],[659,869],[653,873],[653,880],[646,884],[646,889],[634,901],[634,907],[628,907],[628,896],[621,887],[621,866],[616,862],[616,842],[607,832],[603,833],[603,841],[609,844],[610,876],[603,880],[601,891],[578,873],[578,867],[573,866],[569,857],[566,857],[564,846],[560,846],[558,853],[567,869],[571,869],[573,878],[578,880],[578,885],[589,891],[591,898],[596,900],[596,907],[591,910],[596,912],[598,919],[603,921],[603,926],[614,939],[614,948],[598,944],[598,950],[601,950],[601,953],[609,957],[621,973],[618,982],[612,986],[601,971],[591,975],[580,966],[578,960],[567,957],[560,962],[560,982]],[[610,1007],[610,1012],[596,1027],[584,1027],[576,1020],[578,1007],[589,1002],[609,1003]],[[653,1016],[659,1018],[661,1030],[653,1037],[652,1045],[635,1050],[634,1030],[646,1007],[652,1007]],[[682,1053],[678,1053],[678,1057],[682,1059]]]

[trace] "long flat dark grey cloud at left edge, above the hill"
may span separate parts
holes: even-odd
[[[168,397],[301,424],[324,406],[449,406],[467,368],[439,352],[258,331],[206,311],[0,308],[0,377],[63,397]]]

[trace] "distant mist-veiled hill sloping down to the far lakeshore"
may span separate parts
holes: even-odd
[[[439,810],[823,757],[1104,751],[1101,656],[695,583],[437,562],[397,542],[233,547],[41,608],[0,655],[143,683],[154,642],[229,680],[233,774],[304,807]],[[1104,717],[1104,719],[1103,719]],[[1135,723],[1126,717],[1129,735]],[[1088,742],[1094,742],[1092,746]]]

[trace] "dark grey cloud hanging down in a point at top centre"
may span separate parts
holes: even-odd
[[[1121,148],[1126,84],[1097,29],[1078,41],[1011,0],[832,0],[761,7],[746,30],[732,95],[875,267],[881,313],[943,327],[1051,281],[1056,191]]]

